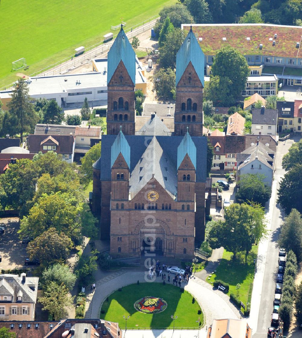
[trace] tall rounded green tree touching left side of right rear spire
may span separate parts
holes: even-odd
[[[175,28],[166,36],[165,44],[159,48],[159,68],[171,68],[176,66],[176,54],[184,41],[184,31]]]

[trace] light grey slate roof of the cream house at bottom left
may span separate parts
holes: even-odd
[[[17,295],[22,292],[22,303],[36,303],[38,277],[27,277],[22,283],[22,277],[12,274],[0,274],[0,295],[12,295],[12,303],[16,303]],[[32,290],[29,286],[34,285]],[[22,304],[21,303],[21,304]]]

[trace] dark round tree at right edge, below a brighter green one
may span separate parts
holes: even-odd
[[[302,164],[296,164],[281,180],[278,190],[278,203],[289,214],[293,208],[302,213]]]

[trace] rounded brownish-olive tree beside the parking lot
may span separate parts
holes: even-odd
[[[36,258],[43,265],[48,265],[55,261],[66,260],[71,248],[71,239],[51,227],[31,241],[26,251],[30,259]]]

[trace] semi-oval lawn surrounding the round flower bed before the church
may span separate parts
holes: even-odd
[[[173,278],[173,277],[172,277]],[[166,300],[167,309],[160,313],[146,314],[134,309],[134,302],[145,296],[160,297]],[[180,292],[180,288],[161,283],[132,284],[116,291],[104,301],[101,319],[118,322],[122,329],[125,328],[123,316],[130,316],[127,320],[127,328],[166,328],[173,327],[171,315],[178,316],[175,327],[198,327],[196,321],[203,322],[203,315],[198,314],[199,305],[195,301],[192,304],[192,296],[186,291]]]

